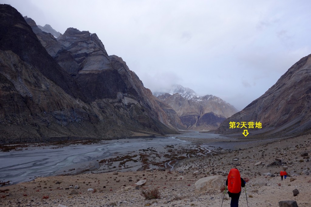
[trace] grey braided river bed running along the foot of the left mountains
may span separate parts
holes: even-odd
[[[190,132],[169,137],[102,141],[90,145],[70,144],[60,147],[30,145],[19,151],[0,152],[0,181],[11,181],[11,184],[15,184],[30,181],[39,176],[56,175],[59,172],[65,172],[63,169],[68,170],[70,167],[78,168],[80,166],[83,168],[85,165],[86,168],[90,168],[88,165],[91,164],[96,168],[96,164],[98,164],[96,160],[105,159],[111,155],[124,155],[151,146],[159,151],[167,145],[191,146],[190,141],[182,140],[184,137],[224,138],[217,134]],[[223,144],[223,142],[215,142],[214,146],[224,148]],[[232,144],[228,146],[232,146]]]

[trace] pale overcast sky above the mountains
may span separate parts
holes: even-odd
[[[311,53],[311,1],[0,0],[37,25],[96,33],[152,92],[171,84],[241,110]]]

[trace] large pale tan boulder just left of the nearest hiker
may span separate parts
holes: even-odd
[[[206,191],[208,188],[220,190],[222,187],[225,187],[225,182],[221,176],[209,176],[195,182],[194,193],[197,195]]]

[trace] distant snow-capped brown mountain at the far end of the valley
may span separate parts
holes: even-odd
[[[180,85],[175,85],[169,93],[156,92],[154,95],[171,106],[189,129],[217,129],[225,118],[237,112],[234,106],[216,96],[198,96]]]

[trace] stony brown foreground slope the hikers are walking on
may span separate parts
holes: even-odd
[[[248,145],[241,147],[242,150],[219,155],[192,157],[179,161],[173,171],[85,173],[36,178],[31,182],[0,187],[0,206],[221,206],[224,193],[220,189],[209,189],[195,195],[194,183],[211,175],[219,175],[225,182],[225,173],[237,167],[241,177],[249,179],[246,184],[248,206],[277,207],[281,200],[296,200],[299,207],[307,207],[311,206],[311,176],[307,175],[311,172],[310,162],[308,155],[301,155],[311,154],[310,141],[309,134]],[[283,164],[267,167],[276,159],[282,160]],[[259,161],[262,163],[258,164]],[[262,175],[279,173],[285,166],[290,174],[286,180],[281,181],[280,176]],[[196,170],[200,174],[193,174]],[[291,182],[290,178],[296,180]],[[142,179],[146,179],[146,184],[136,187],[134,184]],[[267,185],[255,185],[260,182]],[[80,188],[75,190],[77,194],[70,195],[72,189],[66,188],[75,185]],[[96,191],[88,191],[90,188]],[[154,188],[160,191],[160,199],[145,200],[141,192]],[[299,190],[298,196],[293,196],[294,189]],[[228,194],[225,194],[223,206],[230,206]],[[239,206],[247,206],[244,189]]]

